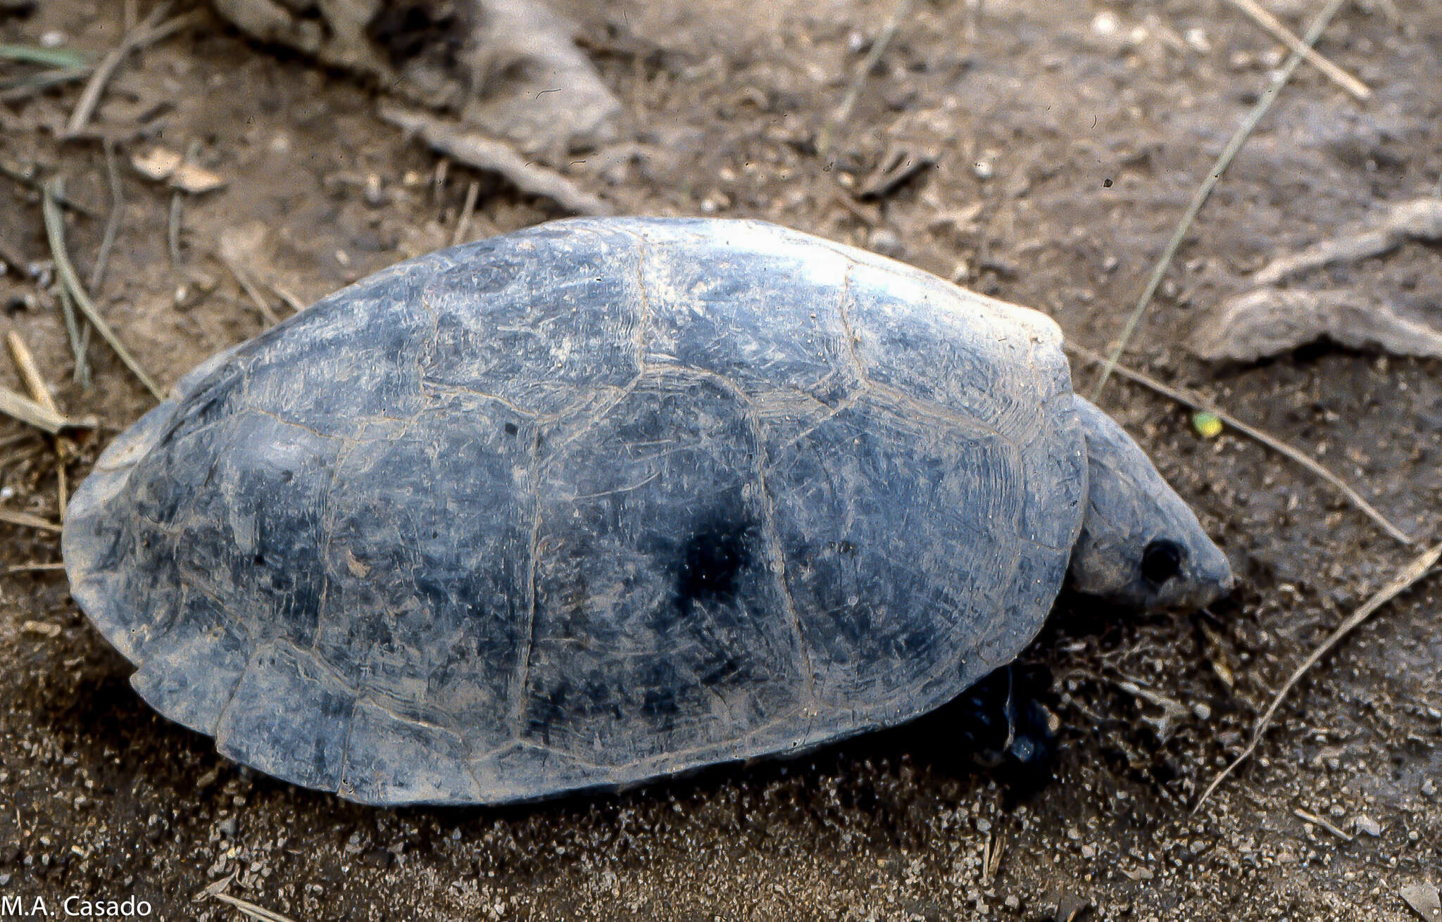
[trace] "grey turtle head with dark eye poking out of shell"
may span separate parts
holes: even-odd
[[[1071,549],[1071,588],[1138,609],[1195,609],[1227,595],[1231,566],[1151,460],[1096,406],[1086,431],[1087,506]]]

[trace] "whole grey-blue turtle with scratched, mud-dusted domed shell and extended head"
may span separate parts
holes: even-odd
[[[555,220],[322,298],[118,435],[62,549],[157,712],[376,805],[796,755],[956,697],[1066,582],[1233,582],[1048,317],[741,219]]]

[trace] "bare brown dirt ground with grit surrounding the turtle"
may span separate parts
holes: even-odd
[[[121,35],[121,6],[42,0],[14,16],[0,4],[0,42],[99,55]],[[1268,6],[1301,27],[1321,4]],[[893,4],[559,9],[626,107],[620,144],[559,166],[617,212],[779,220],[1037,307],[1093,349],[1118,336],[1282,56],[1223,0],[921,1],[828,130]],[[1350,4],[1319,49],[1376,95],[1357,102],[1298,71],[1203,210],[1128,362],[1302,448],[1426,540],[1442,498],[1438,362],[1318,346],[1207,366],[1181,347],[1280,248],[1432,194],[1442,176],[1442,7]],[[66,180],[88,210],[66,225],[88,277],[111,192],[95,137],[56,140],[78,95],[72,84],[0,104],[0,158]],[[209,12],[120,69],[95,121],[124,202],[97,301],[162,383],[267,324],[221,261],[224,239],[261,241],[241,248],[244,269],[310,303],[446,245],[470,180],[467,236],[561,216],[493,174],[451,164],[437,182],[437,157],[379,121],[375,99]],[[193,150],[226,182],[179,200],[180,265],[172,194],[128,166],[154,144]],[[862,194],[895,157],[933,166]],[[78,483],[151,400],[98,340],[94,383],[75,383],[39,199],[4,177],[0,242],[40,264],[39,279],[0,275],[0,326],[27,340],[61,406],[104,422],[68,467]],[[1331,277],[1442,304],[1436,246]],[[1092,379],[1077,369],[1079,386]],[[1413,552],[1305,470],[1234,434],[1198,437],[1151,392],[1116,382],[1102,405],[1195,506],[1242,588],[1195,617],[1123,618],[1063,596],[1024,654],[1056,676],[1045,700],[1063,725],[1057,779],[1040,795],[1017,797],[939,743],[943,710],[796,762],[619,795],[356,807],[244,771],[151,713],[63,573],[17,572],[0,575],[0,896],[43,898],[52,915],[76,895],[232,919],[200,898],[229,879],[228,893],[309,922],[1416,918],[1399,889],[1442,883],[1442,585],[1425,581],[1345,641],[1257,756],[1190,813],[1270,692]],[[3,507],[53,520],[56,490],[49,442],[0,419]],[[59,560],[56,534],[0,534],[0,565]],[[1171,723],[1128,681],[1178,703]]]

